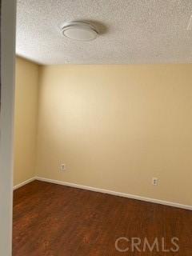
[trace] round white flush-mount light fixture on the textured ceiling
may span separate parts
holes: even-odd
[[[62,27],[62,34],[66,38],[78,41],[94,40],[98,36],[98,31],[93,25],[86,22],[69,22]]]

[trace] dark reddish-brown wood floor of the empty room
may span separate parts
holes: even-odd
[[[115,241],[119,252],[115,249]],[[131,248],[134,238],[157,244],[153,251]],[[163,252],[175,246],[178,252]],[[127,241],[129,238],[130,241]],[[132,240],[131,240],[132,239]],[[138,241],[138,240],[137,240]],[[192,255],[192,211],[31,182],[14,191],[14,256]]]

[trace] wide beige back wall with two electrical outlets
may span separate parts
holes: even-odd
[[[39,86],[38,176],[192,205],[192,65],[44,66]]]

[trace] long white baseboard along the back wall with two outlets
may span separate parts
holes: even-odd
[[[42,181],[42,182],[50,182],[50,183],[63,185],[63,186],[71,186],[71,187],[75,187],[75,188],[82,189],[82,190],[90,190],[90,191],[94,191],[94,192],[100,192],[103,194],[112,194],[112,195],[116,195],[116,196],[123,197],[123,198],[131,198],[131,199],[136,199],[136,200],[145,201],[145,202],[154,202],[154,203],[158,203],[158,204],[165,205],[165,206],[182,208],[185,210],[192,210],[192,206],[182,205],[177,202],[167,202],[167,201],[158,200],[158,199],[154,199],[154,198],[145,198],[145,197],[135,195],[135,194],[125,194],[125,193],[116,192],[116,191],[112,191],[112,190],[104,190],[104,189],[99,189],[99,188],[91,187],[91,186],[78,185],[78,184],[70,183],[70,182],[61,182],[61,181],[50,179],[50,178],[36,177],[35,179],[37,179],[38,181]]]

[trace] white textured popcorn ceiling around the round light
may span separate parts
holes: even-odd
[[[18,0],[18,55],[41,64],[192,63],[191,0]],[[90,21],[91,42],[62,36]]]

